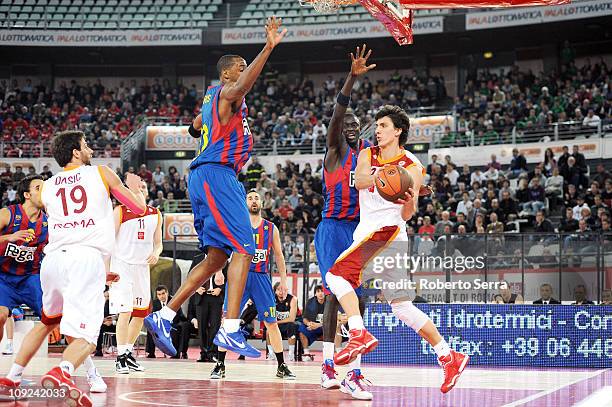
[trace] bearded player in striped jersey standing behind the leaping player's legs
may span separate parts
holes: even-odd
[[[287,268],[285,267],[285,256],[281,245],[278,228],[269,220],[261,216],[261,196],[252,189],[247,194],[247,207],[249,208],[250,225],[252,227],[253,240],[255,241],[255,256],[251,261],[249,276],[247,278],[240,309],[243,309],[250,299],[257,309],[257,319],[263,321],[272,350],[276,355],[278,369],[276,376],[281,379],[294,380],[295,375],[289,370],[283,355],[283,338],[276,320],[276,298],[272,290],[272,281],[268,275],[270,256],[274,253],[276,267],[280,274],[280,288],[287,290]],[[225,350],[219,346],[217,365],[213,369],[210,378],[222,379],[225,377]]]

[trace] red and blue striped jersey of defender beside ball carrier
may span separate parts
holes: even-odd
[[[355,168],[359,152],[370,147],[359,141],[359,150],[347,148],[341,165],[332,172],[323,169],[323,219],[359,220],[359,191],[355,188]]]

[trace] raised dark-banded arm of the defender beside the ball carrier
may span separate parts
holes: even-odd
[[[355,85],[355,80],[358,76],[376,68],[376,64],[368,65],[368,58],[372,55],[372,50],[367,51],[366,45],[363,47],[357,47],[355,54],[351,52],[351,71],[349,72],[344,85],[336,98],[336,105],[334,106],[334,113],[331,121],[329,122],[329,128],[327,129],[326,145],[328,154],[338,154],[344,156],[346,153],[346,138],[342,135],[342,127],[344,124],[344,114],[351,101],[351,90]]]

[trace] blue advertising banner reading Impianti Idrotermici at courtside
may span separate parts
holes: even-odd
[[[415,305],[473,365],[612,367],[612,306]],[[433,348],[388,304],[368,304],[364,322],[379,340],[364,362],[437,363]]]

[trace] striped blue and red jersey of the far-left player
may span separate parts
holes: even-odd
[[[21,205],[10,205],[11,220],[1,231],[2,235],[10,235],[19,230],[34,230],[31,242],[0,243],[0,272],[23,276],[40,273],[40,263],[44,257],[43,249],[47,245],[47,215],[41,212],[36,222],[30,222]]]

